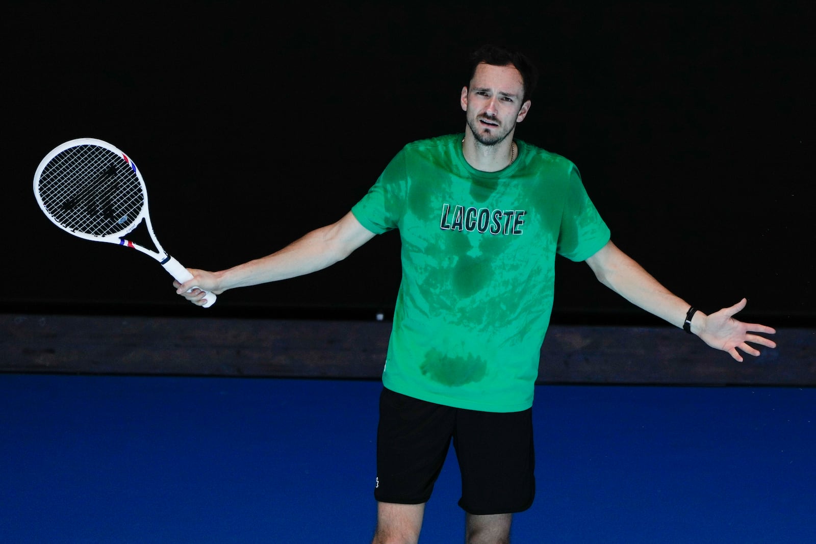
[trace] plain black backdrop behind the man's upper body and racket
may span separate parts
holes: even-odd
[[[704,311],[744,296],[746,320],[812,326],[810,3],[12,2],[0,311],[388,319],[396,232],[204,310],[152,259],[55,228],[34,170],[65,140],[109,141],[165,249],[227,268],[339,219],[403,144],[463,130],[463,60],[506,42],[543,76],[517,138],[579,166],[623,250]],[[555,322],[656,322],[557,266]]]

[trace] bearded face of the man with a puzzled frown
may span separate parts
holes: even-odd
[[[507,138],[530,109],[530,100],[521,103],[523,95],[521,73],[514,66],[477,66],[460,102],[479,143],[494,145]]]

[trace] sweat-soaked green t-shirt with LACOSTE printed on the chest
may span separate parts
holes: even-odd
[[[353,215],[399,229],[402,281],[385,387],[489,412],[530,408],[552,312],[555,257],[588,259],[610,239],[578,169],[516,140],[498,172],[468,165],[463,135],[402,148]]]

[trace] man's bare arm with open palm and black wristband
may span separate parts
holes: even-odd
[[[595,272],[598,281],[624,299],[672,325],[683,326],[689,303],[663,287],[640,264],[619,250],[612,241],[587,259],[587,264],[592,268],[592,272]],[[696,312],[691,319],[691,332],[697,334],[709,346],[728,352],[739,361],[742,361],[743,357],[737,348],[752,356],[760,354],[749,343],[776,347],[773,340],[760,336],[774,334],[776,332],[774,329],[734,319],[734,314],[742,310],[746,303],[746,299],[742,299],[734,306],[723,308],[710,316]]]

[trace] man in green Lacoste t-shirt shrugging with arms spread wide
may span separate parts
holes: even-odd
[[[464,135],[406,145],[337,223],[221,272],[191,269],[177,292],[215,294],[326,268],[375,234],[400,231],[402,281],[383,373],[376,543],[418,542],[424,504],[451,440],[462,472],[467,542],[509,542],[534,497],[531,405],[548,327],[554,261],[586,261],[637,306],[742,360],[775,347],[732,316],[706,316],[610,241],[564,157],[514,139],[536,79],[524,55],[485,46],[460,102]],[[187,292],[190,290],[189,292]]]

